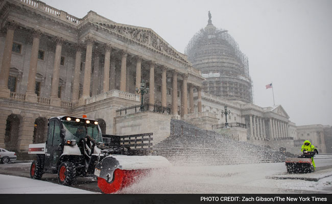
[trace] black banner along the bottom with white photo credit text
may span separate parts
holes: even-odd
[[[332,203],[332,194],[0,194],[1,203]]]

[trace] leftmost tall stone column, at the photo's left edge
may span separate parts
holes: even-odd
[[[14,21],[7,22],[7,34],[5,40],[5,49],[0,72],[0,97],[9,98],[10,90],[8,89],[9,68],[12,59],[14,30],[17,24]]]

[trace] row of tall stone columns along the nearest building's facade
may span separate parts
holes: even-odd
[[[14,31],[17,25],[14,22],[7,22],[7,35],[5,42],[5,49],[2,61],[2,69],[0,73],[0,96],[9,98],[10,91],[7,86],[8,78],[9,78],[9,69],[11,63],[11,54],[12,54],[12,45],[14,38]],[[30,69],[29,69],[29,81],[26,92],[26,100],[29,101],[37,101],[37,95],[35,94],[35,76],[37,72],[37,62],[38,62],[38,50],[39,50],[39,41],[41,37],[41,32],[38,30],[33,31],[33,43],[32,43],[32,51],[31,51],[31,59],[30,59]],[[90,97],[90,80],[91,80],[91,62],[92,62],[92,47],[94,40],[90,37],[85,39],[86,43],[86,56],[85,56],[85,69],[84,69],[84,80],[83,80],[83,93],[82,97],[79,99],[79,74],[80,74],[80,65],[81,65],[81,55],[82,55],[82,47],[80,45],[76,46],[76,59],[75,59],[75,70],[74,70],[74,83],[73,83],[73,95],[72,102],[77,103],[79,105],[84,105],[86,98]],[[54,58],[54,67],[53,67],[53,77],[52,77],[52,85],[51,85],[51,105],[60,106],[61,100],[58,97],[58,86],[59,86],[59,75],[60,75],[60,61],[61,61],[61,50],[62,50],[63,39],[56,38],[56,50],[55,50],[55,58]],[[104,60],[104,78],[103,78],[103,92],[109,90],[110,80],[114,81],[115,75],[114,70],[111,69],[110,73],[110,53],[111,53],[111,45],[105,44],[105,60]],[[122,50],[121,52],[121,79],[120,79],[120,90],[126,91],[126,77],[127,77],[127,56],[128,54]],[[136,57],[136,87],[139,88],[140,80],[141,80],[141,57]],[[150,65],[150,91],[149,91],[149,103],[155,103],[155,90],[154,90],[154,81],[155,81],[155,62],[149,62]],[[161,105],[167,106],[167,68],[161,66]],[[178,106],[177,106],[177,78],[179,72],[173,70],[173,83],[172,83],[172,114],[178,114]],[[98,74],[94,74],[98,75]],[[182,74],[182,94],[181,94],[181,115],[185,115],[188,113],[187,107],[187,74]],[[97,81],[97,80],[93,80]],[[196,87],[198,91],[198,112],[202,111],[202,99],[201,99],[201,87]],[[193,85],[189,85],[189,113],[194,113],[194,94],[193,94]]]

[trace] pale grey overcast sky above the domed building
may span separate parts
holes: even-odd
[[[297,125],[332,125],[332,1],[43,0],[82,18],[88,11],[151,28],[179,52],[207,25],[228,30],[249,58],[254,104],[281,105]]]

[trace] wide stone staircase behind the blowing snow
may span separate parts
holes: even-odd
[[[206,131],[184,122],[171,120],[171,136],[153,146],[154,154],[173,164],[232,165],[284,162],[282,152],[235,141],[214,131]]]

